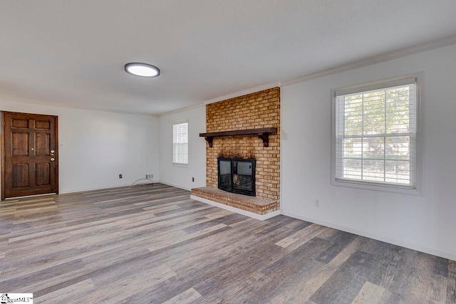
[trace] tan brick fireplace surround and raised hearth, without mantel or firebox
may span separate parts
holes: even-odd
[[[266,136],[268,142],[260,134],[210,138],[212,147],[209,147],[209,141],[206,144],[206,187],[192,189],[192,195],[255,214],[264,215],[279,210],[280,88],[206,105],[207,133],[266,128],[276,130]],[[255,197],[217,189],[218,157],[256,160]]]

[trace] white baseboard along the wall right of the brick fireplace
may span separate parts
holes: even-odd
[[[410,241],[393,239],[393,238],[390,238],[389,236],[383,236],[381,234],[375,234],[375,233],[369,232],[369,231],[361,231],[358,229],[353,229],[350,227],[329,223],[327,221],[320,221],[319,219],[314,219],[314,218],[307,217],[307,216],[301,216],[300,214],[294,214],[294,213],[283,211],[283,210],[282,210],[281,214],[283,214],[284,216],[293,217],[295,219],[302,219],[303,221],[310,221],[311,223],[315,223],[315,224],[322,225],[322,226],[327,226],[327,227],[330,227],[333,229],[346,231],[351,234],[358,234],[358,236],[366,236],[366,238],[375,239],[377,241],[383,241],[386,243],[392,243],[393,245],[398,245],[398,246],[413,249],[416,251],[429,253],[429,254],[432,254],[433,256],[440,256],[442,258],[449,258],[450,260],[456,261],[456,253],[440,251],[438,249],[429,248],[426,246],[419,245],[417,243],[412,243]]]

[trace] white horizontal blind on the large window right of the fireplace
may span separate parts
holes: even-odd
[[[415,188],[416,80],[387,85],[336,92],[336,180]]]

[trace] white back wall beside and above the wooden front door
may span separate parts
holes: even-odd
[[[160,178],[157,117],[2,100],[0,110],[58,116],[60,193],[130,185],[145,174]]]

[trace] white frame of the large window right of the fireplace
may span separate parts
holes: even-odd
[[[361,93],[369,90],[379,90],[401,85],[408,79],[415,78],[416,81],[416,142],[415,142],[415,187],[402,186],[396,184],[385,184],[371,181],[357,181],[348,179],[336,179],[336,118],[337,118],[337,95],[348,95],[351,93]],[[384,192],[395,192],[402,194],[423,195],[423,120],[421,119],[421,97],[423,95],[424,73],[413,73],[402,75],[396,78],[387,78],[372,83],[335,88],[331,90],[331,184],[333,186],[352,187],[358,189],[368,189]]]

